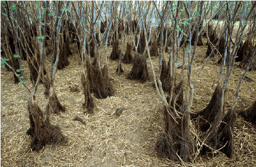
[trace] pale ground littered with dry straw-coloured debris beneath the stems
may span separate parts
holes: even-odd
[[[193,64],[192,80],[205,61],[207,46],[198,46]],[[54,81],[55,92],[66,112],[51,115],[51,122],[59,125],[68,138],[66,145],[52,147],[47,145],[40,152],[29,148],[30,136],[26,93],[24,87],[13,84],[13,74],[1,68],[1,166],[255,166],[256,165],[256,127],[238,116],[235,126],[235,153],[229,159],[217,154],[199,155],[193,163],[172,162],[156,155],[155,144],[162,134],[162,113],[158,109],[163,105],[155,88],[152,86],[153,75],[147,58],[150,81],[128,80],[132,64],[122,64],[124,73],[115,73],[118,61],[108,60],[109,77],[115,93],[106,99],[95,99],[94,114],[84,114],[82,103],[84,93],[81,85],[81,64],[75,43],[71,44],[73,55],[70,65],[58,70]],[[123,50],[125,53],[126,45]],[[112,46],[107,48],[110,56]],[[104,47],[101,48],[104,56]],[[168,56],[169,54],[166,53]],[[180,52],[182,55],[182,52]],[[153,57],[156,73],[158,58]],[[192,112],[201,111],[211,100],[217,86],[215,58],[209,60],[195,84],[195,97]],[[29,69],[23,61],[25,77],[29,78]],[[178,62],[181,65],[181,62]],[[218,67],[218,70],[220,66]],[[181,69],[177,69],[178,74]],[[229,80],[226,93],[226,111],[232,106],[236,87],[243,70],[235,67]],[[186,73],[185,73],[186,74]],[[243,81],[237,110],[241,111],[252,105],[256,99],[256,71],[249,71],[246,76],[254,81]],[[178,80],[180,75],[177,76]],[[32,83],[27,80],[27,84]],[[47,99],[44,87],[39,86],[36,101],[45,109]],[[117,116],[116,110],[122,109]],[[85,125],[73,119],[81,117]],[[194,121],[192,121],[194,122]]]

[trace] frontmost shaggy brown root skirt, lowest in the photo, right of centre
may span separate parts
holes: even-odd
[[[175,117],[175,100],[177,100],[177,104],[175,103],[177,111],[182,113],[180,117]],[[164,115],[164,135],[161,135],[156,143],[156,152],[160,157],[191,162],[192,155],[196,152],[196,142],[190,129],[190,114],[187,107],[182,106],[183,84],[180,82],[174,89],[174,98],[169,111],[165,106],[161,108]]]

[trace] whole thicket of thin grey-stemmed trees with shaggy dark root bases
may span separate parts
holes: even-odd
[[[254,1],[1,1],[1,67],[13,72],[14,83],[22,84],[27,94],[31,149],[39,151],[45,144],[67,141],[50,117],[65,112],[55,93],[54,78],[57,70],[69,65],[70,43],[76,43],[82,64],[85,102],[81,106],[85,113],[94,112],[94,98],[115,95],[107,62],[108,58],[118,59],[116,73],[124,71],[122,63],[132,64],[127,78],[143,83],[153,80],[163,102],[159,112],[164,114],[164,131],[155,148],[160,157],[190,162],[199,153],[220,150],[232,158],[241,82],[228,109],[224,109],[225,92],[234,68],[244,70],[240,81],[248,70],[256,70],[255,5]],[[215,56],[220,58],[214,64],[220,67],[216,71],[218,86],[208,106],[191,115],[196,84],[191,73],[197,46],[203,45],[202,37],[207,39],[207,52],[195,81],[209,58]],[[113,48],[110,55],[107,47]],[[152,56],[159,58],[158,70],[153,68]],[[47,60],[50,65],[46,65]],[[182,65],[177,67],[177,62]],[[238,67],[235,62],[240,62]],[[29,71],[24,71],[25,63]],[[180,77],[177,68],[182,69]],[[32,87],[26,83],[25,72],[30,74]],[[39,84],[43,84],[48,99],[46,112],[36,103]],[[254,123],[255,103],[242,112],[247,121]],[[196,127],[192,119],[199,119],[200,126]],[[205,133],[199,136],[195,131]]]

